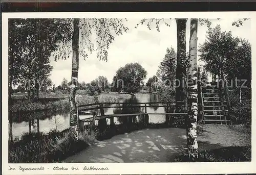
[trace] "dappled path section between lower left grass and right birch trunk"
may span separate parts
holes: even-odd
[[[63,162],[168,162],[184,152],[185,146],[184,129],[144,129],[98,141]]]

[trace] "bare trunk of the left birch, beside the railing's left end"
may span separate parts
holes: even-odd
[[[74,134],[76,140],[78,140],[78,116],[76,113],[76,82],[78,80],[78,68],[79,68],[79,18],[73,20],[74,32],[72,38],[72,49],[73,49],[73,58],[72,58],[72,75],[69,92],[69,103],[70,103],[70,129]]]

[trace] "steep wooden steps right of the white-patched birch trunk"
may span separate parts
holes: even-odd
[[[202,117],[203,123],[228,124],[229,103],[221,82],[208,82],[202,86]]]

